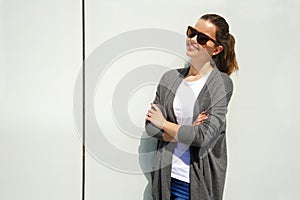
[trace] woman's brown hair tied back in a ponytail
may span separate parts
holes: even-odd
[[[233,35],[229,33],[229,25],[226,20],[216,14],[206,14],[200,19],[208,20],[216,26],[217,45],[223,46],[223,51],[212,57],[215,65],[220,71],[225,72],[228,75],[237,71],[239,66],[234,51],[235,39]]]

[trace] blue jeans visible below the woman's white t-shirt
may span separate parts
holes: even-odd
[[[171,200],[189,200],[190,184],[171,178]]]

